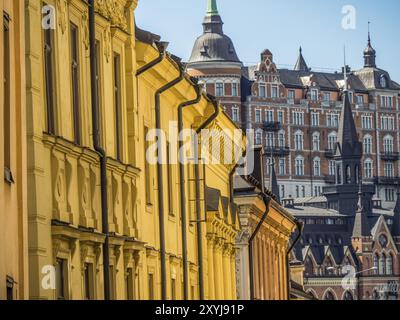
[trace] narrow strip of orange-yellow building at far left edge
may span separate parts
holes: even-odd
[[[23,1],[0,11],[0,300],[14,300],[28,297]]]

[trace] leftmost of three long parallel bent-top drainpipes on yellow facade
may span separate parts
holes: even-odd
[[[181,82],[184,78],[184,71],[181,65],[179,67],[179,76],[167,83],[155,93],[155,113],[156,113],[156,130],[161,129],[161,94],[171,89],[173,86]],[[163,143],[160,137],[157,138],[157,177],[158,177],[158,218],[160,229],[160,254],[161,254],[161,300],[167,299],[167,265],[166,265],[166,249],[165,249],[165,221],[164,221],[164,177],[162,160]]]

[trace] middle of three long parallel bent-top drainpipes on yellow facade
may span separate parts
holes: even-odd
[[[198,104],[201,99],[201,89],[198,85],[195,86],[196,98],[190,101],[181,103],[178,106],[178,132],[181,134],[183,130],[183,109],[195,104]],[[187,216],[186,216],[186,188],[185,188],[185,167],[182,163],[185,155],[183,152],[183,141],[179,139],[179,176],[180,176],[180,201],[181,201],[181,217],[182,217],[182,256],[183,256],[183,299],[188,300],[189,291],[189,271],[188,271],[188,256],[187,256]]]

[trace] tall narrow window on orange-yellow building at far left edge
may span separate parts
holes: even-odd
[[[3,97],[3,105],[4,105],[4,114],[3,114],[3,137],[4,137],[4,168],[5,168],[5,178],[6,180],[10,180],[11,178],[11,73],[10,73],[10,32],[9,32],[9,21],[8,15],[3,15],[4,20],[4,35],[3,35],[3,46],[4,46],[4,55],[3,55],[3,65],[4,65],[4,97]],[[7,174],[8,173],[8,174]],[[10,179],[7,179],[9,176]]]

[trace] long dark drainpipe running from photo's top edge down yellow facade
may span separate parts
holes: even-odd
[[[101,217],[102,232],[105,235],[103,244],[103,276],[104,276],[104,300],[110,300],[110,235],[108,230],[108,198],[107,198],[107,156],[99,142],[98,126],[98,101],[96,92],[96,34],[95,34],[94,0],[89,1],[89,41],[90,41],[90,80],[92,97],[92,126],[93,146],[100,155],[100,188],[101,188]]]

